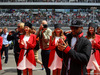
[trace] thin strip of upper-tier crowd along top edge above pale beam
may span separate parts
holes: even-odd
[[[0,0],[0,2],[71,2],[100,3],[100,0]]]

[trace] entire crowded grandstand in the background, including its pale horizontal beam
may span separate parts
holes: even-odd
[[[0,26],[20,21],[39,26],[42,20],[49,26],[69,26],[73,19],[82,20],[84,26],[100,22],[100,0],[0,0],[0,8]]]

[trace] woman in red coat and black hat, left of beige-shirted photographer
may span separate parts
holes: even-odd
[[[24,35],[20,36],[19,46],[21,48],[17,68],[23,70],[23,75],[32,75],[32,69],[36,66],[34,47],[36,46],[36,36],[31,34],[32,24],[25,23]]]

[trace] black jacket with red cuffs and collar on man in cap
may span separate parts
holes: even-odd
[[[66,35],[69,46],[62,52],[56,49],[59,57],[63,59],[62,73],[61,75],[86,75],[86,66],[91,54],[91,43],[83,37],[83,33],[80,33],[77,37],[77,42],[74,49],[71,49],[72,34]],[[68,59],[70,61],[70,69],[68,70]]]

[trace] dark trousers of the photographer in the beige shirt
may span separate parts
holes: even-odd
[[[41,51],[42,63],[45,68],[46,75],[50,75],[50,69],[48,68],[49,54],[50,54],[50,50]]]

